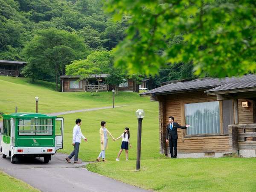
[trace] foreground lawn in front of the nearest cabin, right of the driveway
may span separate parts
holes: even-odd
[[[87,165],[101,175],[161,192],[256,191],[256,158],[201,158],[109,161]]]

